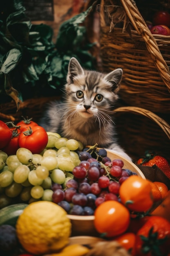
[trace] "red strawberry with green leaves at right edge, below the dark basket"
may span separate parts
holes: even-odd
[[[168,161],[164,157],[156,155],[153,151],[146,151],[145,157],[138,159],[136,163],[144,166],[154,166],[156,164],[157,167],[170,179],[170,165]]]

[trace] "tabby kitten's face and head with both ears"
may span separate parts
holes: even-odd
[[[99,118],[111,114],[122,77],[122,70],[109,74],[83,70],[78,61],[72,58],[68,67],[66,99],[68,110],[84,118]]]

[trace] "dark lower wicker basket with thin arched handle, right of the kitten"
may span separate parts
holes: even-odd
[[[170,162],[170,125],[164,119],[132,106],[119,107],[114,112],[119,143],[134,162],[146,150],[153,150]]]

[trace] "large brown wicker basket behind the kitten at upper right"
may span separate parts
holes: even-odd
[[[103,69],[123,69],[121,99],[126,105],[169,113],[170,36],[153,36],[132,0],[102,0],[100,6]],[[114,27],[117,20],[124,22],[123,28]]]

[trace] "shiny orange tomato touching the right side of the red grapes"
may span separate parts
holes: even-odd
[[[137,175],[128,177],[120,186],[121,202],[131,211],[145,212],[153,205],[150,181]]]

